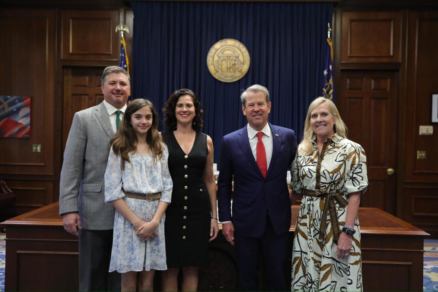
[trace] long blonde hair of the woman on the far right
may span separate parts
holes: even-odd
[[[333,131],[343,138],[347,137],[347,127],[341,119],[341,116],[339,115],[338,109],[336,108],[335,104],[330,99],[326,99],[322,96],[318,97],[314,99],[313,102],[311,102],[309,109],[307,110],[306,121],[304,123],[303,141],[301,141],[300,145],[298,145],[298,149],[304,155],[311,155],[313,153],[312,140],[315,139],[316,134],[313,132],[310,118],[312,111],[321,103],[327,104],[329,106],[330,113],[335,117],[336,123],[333,125]]]

